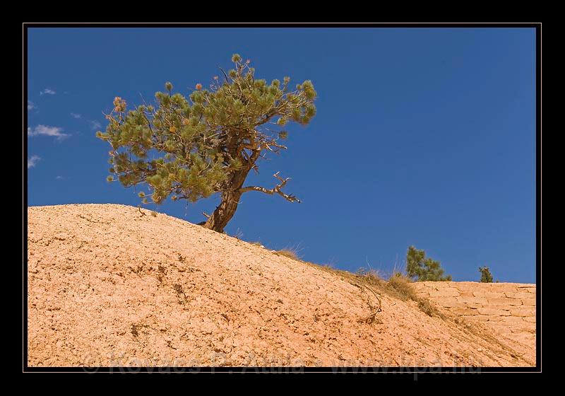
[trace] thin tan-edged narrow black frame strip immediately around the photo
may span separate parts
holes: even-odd
[[[542,372],[542,24],[541,23],[23,23],[23,105],[28,100],[29,28],[535,28],[536,33],[536,366],[535,367],[30,367],[28,366],[27,107],[22,109],[22,366],[24,373],[541,373]]]

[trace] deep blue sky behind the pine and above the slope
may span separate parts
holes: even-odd
[[[28,205],[137,205],[106,182],[114,96],[189,93],[239,53],[256,76],[314,82],[316,117],[250,182],[227,233],[355,271],[403,267],[408,245],[454,280],[535,282],[533,28],[30,28]],[[25,134],[25,131],[24,131]],[[25,135],[24,135],[25,136]],[[211,198],[165,212],[191,222]]]

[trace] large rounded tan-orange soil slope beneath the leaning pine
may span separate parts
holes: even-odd
[[[164,214],[28,208],[30,366],[533,366],[486,327]],[[475,326],[475,325],[473,325]]]

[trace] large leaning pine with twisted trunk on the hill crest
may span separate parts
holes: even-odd
[[[160,204],[172,200],[198,199],[219,193],[221,202],[201,225],[222,232],[232,219],[244,192],[279,194],[289,202],[300,202],[283,192],[290,177],[275,173],[273,188],[244,186],[257,161],[266,153],[278,153],[287,147],[283,129],[288,122],[308,124],[316,115],[316,91],[311,81],[290,89],[290,78],[255,78],[250,61],[234,54],[233,69],[215,76],[210,90],[200,83],[186,98],[173,93],[172,83],[165,92],[155,93],[156,103],[126,110],[126,101],[114,98],[114,107],[106,118],[106,132],[97,137],[112,146],[109,172],[124,187],[145,184],[149,194],[140,194]],[[108,177],[113,181],[114,177]]]

